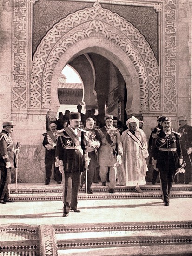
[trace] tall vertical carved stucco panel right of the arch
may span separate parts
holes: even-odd
[[[165,90],[164,112],[177,111],[177,39],[176,0],[166,0],[165,5]]]

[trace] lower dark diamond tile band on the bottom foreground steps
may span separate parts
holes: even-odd
[[[192,239],[190,238],[174,238],[174,239],[138,239],[138,240],[126,240],[126,241],[105,241],[105,242],[86,242],[86,243],[61,243],[58,244],[58,249],[79,249],[93,247],[110,247],[110,246],[132,246],[132,245],[154,245],[154,244],[190,244]]]

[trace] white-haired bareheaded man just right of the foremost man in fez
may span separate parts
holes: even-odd
[[[94,120],[91,117],[88,117],[86,120],[85,127],[85,141],[86,141],[86,150],[88,152],[88,157],[90,159],[90,163],[88,166],[87,172],[87,189],[85,187],[85,192],[87,190],[88,194],[93,194],[91,191],[91,185],[93,182],[94,174],[96,173],[96,168],[98,165],[98,152],[97,149],[101,145],[101,139],[97,130],[93,129]]]

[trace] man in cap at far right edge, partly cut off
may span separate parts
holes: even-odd
[[[178,117],[179,129],[178,132],[182,134],[180,138],[183,160],[186,163],[185,174],[179,173],[179,179],[176,183],[189,184],[192,175],[192,127],[187,124],[186,115]]]

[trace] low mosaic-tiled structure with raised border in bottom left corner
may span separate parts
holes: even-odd
[[[1,225],[0,237],[0,256],[58,256],[52,225]]]

